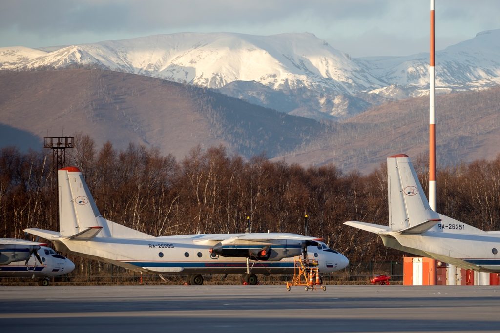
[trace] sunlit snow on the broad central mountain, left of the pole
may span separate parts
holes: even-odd
[[[33,58],[24,53],[34,50],[19,49],[16,54],[24,60],[2,68],[93,63],[210,88],[236,80],[254,80],[273,89],[306,87],[342,93],[386,85],[348,54],[307,32],[271,36],[182,32],[44,49],[53,51],[38,51],[40,55]]]

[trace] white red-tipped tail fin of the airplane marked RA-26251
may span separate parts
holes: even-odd
[[[404,232],[423,232],[440,221],[430,209],[409,157],[404,154],[387,158],[389,227]],[[425,227],[416,228],[425,223]]]

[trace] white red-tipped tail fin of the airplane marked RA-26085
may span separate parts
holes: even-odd
[[[57,176],[59,183],[59,232],[61,236],[72,237],[72,239],[151,237],[102,218],[78,168],[60,169]]]

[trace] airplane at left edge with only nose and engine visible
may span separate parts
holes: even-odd
[[[32,279],[38,277],[42,278],[38,281],[38,285],[48,286],[49,277],[71,272],[74,264],[69,259],[56,254],[47,245],[21,239],[1,238],[0,277],[30,277]]]

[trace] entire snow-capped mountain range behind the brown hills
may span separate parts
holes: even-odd
[[[344,120],[428,94],[428,53],[351,58],[312,33],[152,35],[91,44],[0,48],[0,69],[95,64],[219,89],[313,119]],[[436,51],[436,92],[500,84],[500,29]],[[244,83],[247,82],[247,83]]]

